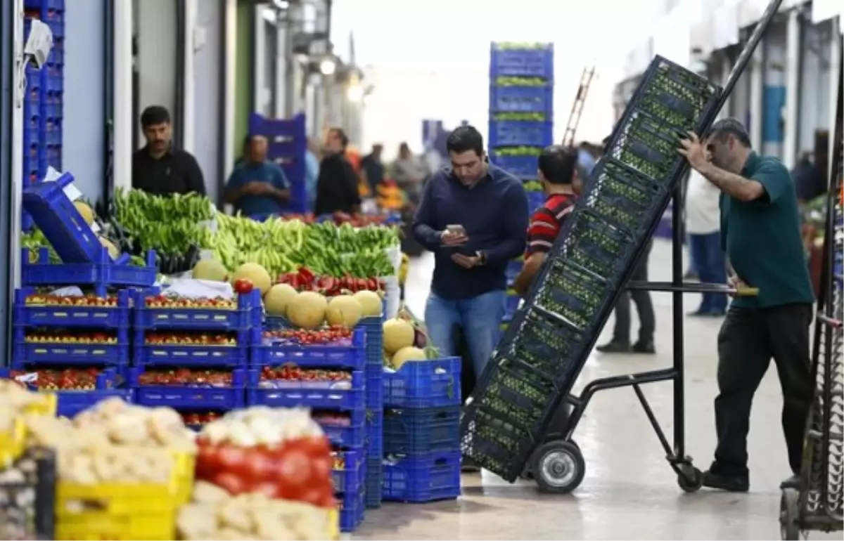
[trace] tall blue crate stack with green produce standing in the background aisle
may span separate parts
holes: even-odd
[[[554,142],[554,46],[550,43],[493,43],[490,47],[490,161],[524,182],[536,180],[537,157]],[[528,211],[544,203],[529,191]],[[512,281],[521,260],[507,269]],[[508,287],[511,284],[508,283]],[[519,297],[509,290],[504,323],[516,313]]]

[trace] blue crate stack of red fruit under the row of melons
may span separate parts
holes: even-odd
[[[268,320],[265,328],[287,322]],[[252,346],[246,385],[246,405],[307,407],[335,449],[334,489],[340,502],[340,529],[352,532],[363,522],[367,439],[366,332],[354,330],[349,345],[297,345],[275,340],[272,331]],[[348,381],[296,381],[262,378],[278,367],[327,370],[348,374]]]

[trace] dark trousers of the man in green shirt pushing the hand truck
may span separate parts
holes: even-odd
[[[814,382],[809,362],[811,304],[772,308],[730,307],[718,332],[718,396],[715,426],[718,446],[712,472],[746,475],[750,403],[771,357],[782,387],[782,431],[788,463],[800,471],[803,430]]]

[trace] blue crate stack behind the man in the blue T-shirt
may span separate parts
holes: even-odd
[[[269,147],[267,158],[284,169],[290,183],[290,201],[284,203],[284,212],[307,211],[305,154],[308,138],[305,115],[296,115],[290,120],[267,118],[252,113],[249,119],[249,135],[267,137]]]

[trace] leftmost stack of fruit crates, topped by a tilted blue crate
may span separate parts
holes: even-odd
[[[132,350],[129,289],[152,286],[156,272],[152,251],[142,265],[110,254],[68,197],[73,190],[71,174],[24,188],[24,211],[52,249],[22,250],[13,362],[4,374],[58,391],[66,416],[110,396],[130,398],[122,384]]]

